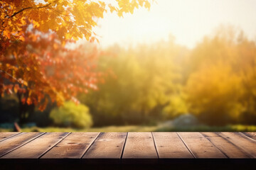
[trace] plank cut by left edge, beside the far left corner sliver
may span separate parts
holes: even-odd
[[[0,157],[22,145],[25,145],[42,134],[43,132],[23,132],[0,142]]]

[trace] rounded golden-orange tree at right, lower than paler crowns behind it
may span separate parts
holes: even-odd
[[[186,92],[191,113],[208,125],[237,123],[244,110],[241,79],[229,64],[210,64],[193,72]]]

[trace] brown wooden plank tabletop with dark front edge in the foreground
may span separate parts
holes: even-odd
[[[6,167],[15,164],[206,167],[213,163],[208,168],[227,164],[232,169],[246,165],[247,169],[256,169],[255,157],[256,132],[0,133],[0,163]]]

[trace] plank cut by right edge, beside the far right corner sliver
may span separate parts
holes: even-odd
[[[219,132],[218,134],[238,146],[247,154],[250,154],[251,157],[256,158],[255,140],[246,137],[241,132]]]

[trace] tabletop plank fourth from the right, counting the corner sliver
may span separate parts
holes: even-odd
[[[200,132],[178,132],[178,135],[196,158],[227,158]]]

